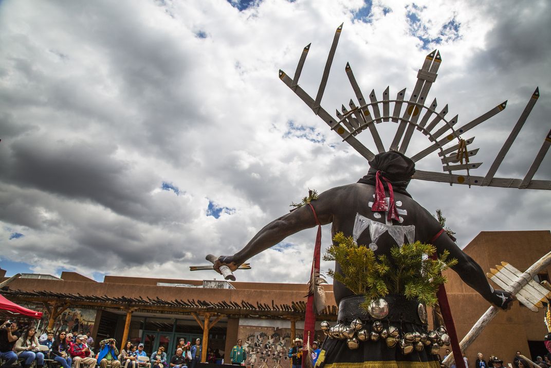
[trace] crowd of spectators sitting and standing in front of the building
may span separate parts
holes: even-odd
[[[241,340],[233,350],[241,349],[240,342]],[[300,341],[295,342],[297,346],[301,345]],[[144,350],[144,344],[133,344],[131,341],[128,341],[119,352],[115,339],[102,340],[99,350],[94,353],[93,344],[94,339],[89,333],[75,335],[61,330],[56,335],[48,330],[39,337],[33,326],[19,329],[17,322],[6,321],[0,326],[0,358],[3,361],[0,368],[8,368],[16,362],[19,362],[22,368],[30,368],[32,365],[42,368],[48,361],[57,362],[60,368],[198,368],[202,355],[201,339],[196,339],[193,345],[190,342],[186,343],[183,338],[180,339],[174,354],[171,355],[167,354],[164,346],[160,346],[149,355]],[[298,359],[298,353],[296,357],[292,353],[293,351],[290,351],[289,356]],[[448,354],[450,350],[446,349],[443,359]],[[238,358],[241,355],[235,355],[231,363],[242,364],[245,355],[243,354],[242,359]],[[218,358],[219,354],[208,350],[208,362],[214,363]],[[477,354],[477,359],[472,365],[463,353],[463,361],[466,368],[551,368],[551,353],[537,356],[533,360],[535,365],[527,360],[521,351],[516,351],[512,363],[505,365],[503,360],[494,355],[490,355],[486,360],[482,353]],[[299,366],[299,363],[293,360],[293,365]],[[456,368],[455,364],[450,368]]]

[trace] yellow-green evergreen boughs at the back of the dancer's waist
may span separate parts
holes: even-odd
[[[441,272],[457,264],[457,259],[447,259],[444,253],[433,260],[436,253],[432,244],[415,242],[393,246],[390,257],[385,254],[375,256],[369,247],[356,245],[352,237],[338,232],[333,244],[327,248],[323,260],[336,261],[341,271],[328,270],[327,275],[344,284],[356,295],[365,295],[361,305],[365,310],[369,303],[387,294],[400,294],[408,299],[417,298],[432,306],[437,302],[436,291],[447,280]]]

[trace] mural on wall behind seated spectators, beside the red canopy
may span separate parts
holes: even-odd
[[[40,321],[40,329],[48,326],[48,313],[46,308],[41,305],[25,305],[26,308],[30,308],[34,311],[40,311],[43,314]],[[61,316],[56,318],[53,324],[53,330],[57,333],[59,330],[71,331],[73,334],[88,334],[91,332],[94,322],[96,320],[96,310],[81,309],[81,308],[67,308],[61,313]]]

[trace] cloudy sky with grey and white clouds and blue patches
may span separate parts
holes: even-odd
[[[425,55],[442,64],[428,95],[467,133],[485,175],[534,89],[496,177],[523,178],[551,127],[548,1],[118,0],[0,2],[0,267],[59,275],[209,279],[207,253],[233,254],[307,190],[356,182],[367,162],[278,78],[322,106],[413,89]],[[355,99],[354,99],[355,100]],[[379,124],[385,146],[396,124]],[[367,137],[360,141],[375,151]],[[416,131],[408,154],[428,145]],[[551,154],[534,179],[551,179]],[[441,170],[437,155],[418,168]],[[414,180],[466,246],[480,231],[549,230],[551,192]],[[251,259],[240,281],[305,282],[315,230]],[[330,242],[329,226],[323,246]],[[506,244],[503,244],[506,247]],[[328,265],[324,264],[327,269]]]

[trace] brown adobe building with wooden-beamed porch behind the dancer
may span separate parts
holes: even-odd
[[[551,233],[481,232],[463,250],[485,272],[501,261],[526,270],[551,250]],[[550,273],[551,267],[538,275],[538,281],[549,280]],[[5,274],[0,270],[0,281],[7,279]],[[489,303],[453,271],[446,271],[446,276],[446,291],[461,339]],[[318,341],[323,339],[319,323],[325,320],[333,324],[337,318],[332,285],[324,287],[327,307],[317,318]],[[229,362],[231,347],[241,338],[249,350],[246,364],[252,367],[290,364],[287,351],[291,341],[302,337],[306,292],[305,284],[122,276],[105,276],[103,282],[96,282],[71,272],[63,272],[61,278],[23,275],[0,290],[9,300],[44,312],[43,326],[49,323],[54,329],[83,333],[89,329],[96,345],[101,339],[114,337],[119,346],[131,340],[144,343],[149,354],[164,346],[171,355],[180,338],[192,343],[200,338],[208,349]],[[510,311],[499,312],[467,349],[470,364],[479,351],[485,358],[499,356],[504,365],[512,362],[516,350],[534,359],[544,354],[547,328],[543,317],[543,310],[534,313],[518,303]],[[203,361],[206,354],[203,348]]]

